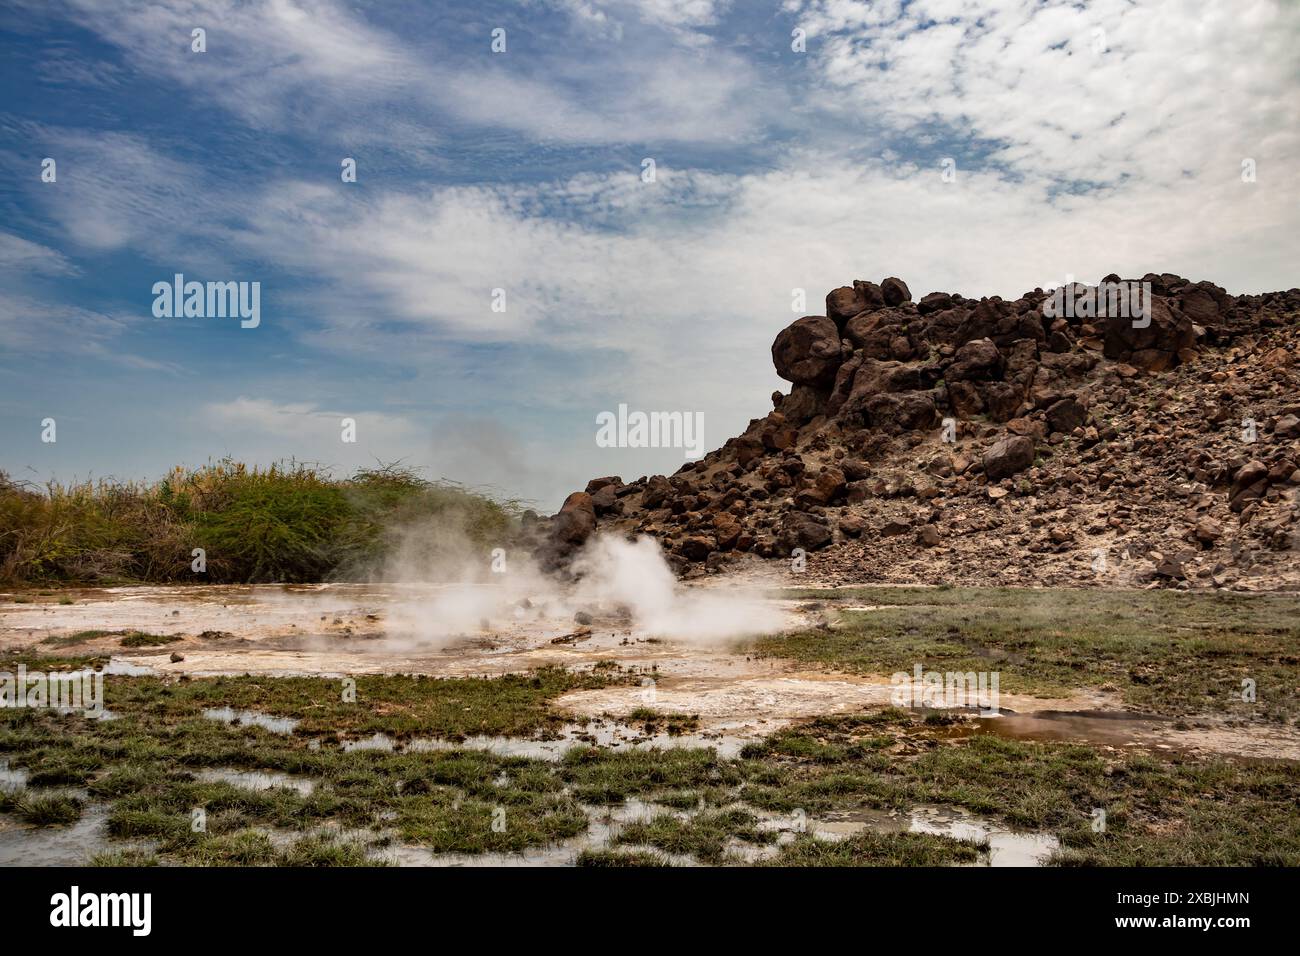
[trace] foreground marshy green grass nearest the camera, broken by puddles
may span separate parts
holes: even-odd
[[[162,683],[110,678],[105,689],[113,695],[120,684],[140,682]],[[433,696],[463,693],[458,682],[424,683],[446,684],[426,688]],[[380,696],[403,700],[408,692]],[[344,752],[320,737],[313,749],[299,734],[195,717],[160,705],[157,691],[118,691],[110,701],[120,713],[114,721],[0,711],[0,752],[27,770],[30,787],[84,787],[91,800],[108,806],[114,838],[146,840],[165,862],[352,865],[372,858],[347,840],[308,840],[330,827],[387,834],[436,853],[521,851],[586,832],[585,806],[636,797],[679,810],[624,825],[607,848],[612,852],[593,852],[581,862],[621,865],[624,855],[646,862],[645,848],[701,862],[740,862],[742,847],[771,847],[775,839],[759,826],[762,814],[793,819],[939,805],[1056,834],[1062,844],[1056,862],[1063,865],[1300,864],[1300,767],[1287,763],[965,736],[896,710],[811,721],[734,760],[693,748],[578,747],[554,762],[463,749]],[[540,698],[534,724],[545,723],[543,710]],[[467,723],[448,727],[465,732],[477,726],[472,711],[459,713],[469,713]],[[316,787],[306,795],[278,787],[251,791],[199,779],[204,767],[280,771],[309,778]],[[74,806],[79,814],[79,804],[26,791],[5,795],[0,812],[56,823],[75,818]],[[191,826],[195,808],[205,814],[202,832]],[[1097,808],[1106,812],[1101,834],[1092,831]],[[247,831],[283,836],[268,845]],[[837,847],[797,838],[776,852],[786,865],[968,858],[965,847],[950,842],[880,834]]]

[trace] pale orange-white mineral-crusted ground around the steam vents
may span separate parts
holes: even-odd
[[[23,602],[14,602],[16,597]],[[753,600],[770,605],[771,619],[785,627],[814,626],[826,617],[822,602],[757,594]],[[590,614],[590,622],[577,623],[576,610]],[[69,643],[94,631],[108,633]],[[121,632],[130,631],[178,640],[124,648]],[[755,658],[746,653],[744,640],[664,640],[638,628],[619,607],[576,606],[555,594],[503,600],[489,585],[173,585],[0,593],[0,648],[112,654],[109,674],[473,676],[540,666],[584,670],[615,661],[644,675],[640,685],[560,697],[558,708],[575,719],[566,730],[568,744],[480,741],[486,749],[524,756],[559,753],[589,732],[578,724],[644,708],[699,718],[698,732],[673,740],[660,735],[658,744],[718,747],[731,754],[803,718],[885,706],[892,689],[887,675],[823,672]],[[968,722],[958,732],[1300,760],[1296,728],[1173,722],[1126,713],[1114,696],[1095,691],[1066,698],[1002,693],[1000,704],[1001,717]],[[209,715],[240,719],[235,713]],[[285,718],[243,719],[280,732],[292,730]],[[598,732],[595,740],[602,745],[655,743],[636,740],[629,728],[602,732],[606,736]]]

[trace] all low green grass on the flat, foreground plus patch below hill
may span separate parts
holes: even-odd
[[[997,661],[1006,689],[1104,680],[1138,702],[1162,688],[1167,700],[1152,709],[1160,701],[1201,706],[1204,682],[1228,680],[1223,669],[1236,654],[1251,672],[1274,675],[1260,679],[1261,701],[1274,709],[1268,713],[1288,713],[1277,682],[1288,674],[1294,680],[1290,598],[892,589],[866,600],[889,606],[816,632],[820,645],[794,635],[786,653],[887,672],[909,669],[909,659],[945,670]],[[0,670],[13,671],[20,661],[75,669],[94,659],[9,654],[0,656]],[[0,812],[68,822],[79,816],[79,799],[40,788],[84,788],[107,806],[114,838],[146,842],[140,852],[159,862],[190,865],[373,861],[370,838],[359,843],[341,832],[434,853],[516,852],[581,836],[593,808],[633,799],[664,809],[623,825],[612,845],[590,848],[580,864],[662,865],[679,856],[734,864],[751,853],[790,866],[971,861],[979,848],[941,836],[864,831],[828,844],[800,835],[776,847],[771,827],[760,825],[774,816],[905,814],[935,805],[1053,834],[1060,865],[1300,865],[1300,766],[1009,740],[976,735],[950,715],[887,709],[824,717],[729,760],[711,748],[580,745],[542,761],[339,745],[372,734],[398,741],[534,735],[566,721],[552,710],[559,695],[625,679],[615,667],[493,679],[376,675],[356,678],[352,698],[342,682],[326,678],[108,676],[104,704],[113,721],[0,710],[0,754],[25,769],[30,787],[0,795]],[[298,726],[281,735],[203,715],[217,706],[289,717]],[[647,728],[690,721],[653,709],[632,717]],[[199,773],[207,769],[278,771],[316,786],[311,793],[251,791]],[[205,817],[198,832],[196,808]],[[1092,829],[1098,809],[1106,818],[1101,832]],[[96,860],[134,858],[126,852],[109,849]]]

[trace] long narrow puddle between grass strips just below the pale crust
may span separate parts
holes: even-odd
[[[757,736],[736,736],[712,732],[693,734],[642,734],[636,727],[619,723],[568,723],[556,730],[559,736],[550,739],[469,736],[464,740],[439,740],[434,737],[413,737],[396,740],[387,734],[374,734],[368,737],[344,740],[343,750],[407,750],[413,753],[432,750],[486,750],[499,757],[529,757],[532,760],[559,760],[575,747],[603,747],[647,750],[672,749],[679,747],[707,748],[718,750],[719,757],[731,758],[740,753],[745,744]]]

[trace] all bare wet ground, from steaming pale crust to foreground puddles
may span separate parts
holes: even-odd
[[[640,674],[630,684],[569,692],[555,708],[568,722],[536,737],[471,736],[395,740],[382,734],[338,741],[344,750],[482,749],[500,756],[559,760],[573,747],[608,749],[711,747],[734,757],[753,741],[805,718],[861,713],[888,706],[888,675],[827,672],[790,661],[757,658],[742,640],[671,640],[638,628],[619,607],[575,609],[554,598],[510,602],[490,589],[425,585],[312,587],[140,587],[0,594],[0,649],[47,654],[110,656],[109,675],[322,675],[426,674],[500,675],[540,666],[584,670],[616,662]],[[18,597],[20,600],[14,600]],[[450,597],[450,601],[448,601]],[[824,623],[824,605],[764,598],[784,627]],[[870,605],[854,610],[870,613]],[[582,611],[582,614],[577,614]],[[918,613],[924,613],[918,609]],[[578,623],[578,622],[582,623]],[[86,632],[107,632],[91,633]],[[160,646],[122,646],[124,632],[174,635]],[[1300,760],[1300,732],[1287,727],[1234,726],[1225,719],[1174,721],[1124,711],[1117,698],[1079,692],[1065,698],[1001,695],[997,717],[962,713],[936,727],[937,735],[997,735],[1017,740],[1067,740],[1097,748],[1184,750],[1245,758]],[[633,711],[696,718],[688,732],[647,732]],[[296,721],[256,710],[213,708],[213,721],[294,734]],[[109,714],[109,717],[112,717]],[[320,745],[313,741],[311,745]],[[265,791],[285,787],[313,793],[321,783],[289,774],[216,767],[199,779]],[[22,769],[0,758],[0,791],[21,791]],[[585,806],[585,834],[519,853],[447,855],[407,845],[393,834],[341,834],[360,840],[376,858],[398,865],[572,865],[584,849],[621,845],[621,827],[658,814],[686,819],[693,810],[638,800],[619,806]],[[987,845],[979,865],[1041,865],[1057,849],[1050,834],[1019,832],[970,813],[939,806],[910,812],[853,810],[818,818],[759,814],[775,843],[733,842],[727,862],[757,862],[800,834],[837,840],[863,830],[927,832]],[[143,844],[109,839],[107,806],[88,803],[69,826],[35,827],[0,814],[0,865],[77,865],[105,849]],[[274,834],[290,842],[302,834]],[[147,849],[147,847],[144,847]],[[645,849],[645,848],[641,848]],[[690,857],[658,853],[668,862]]]

